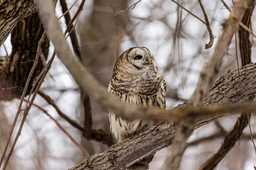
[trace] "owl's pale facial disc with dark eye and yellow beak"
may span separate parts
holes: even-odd
[[[128,62],[137,68],[154,65],[154,58],[147,48],[133,48],[127,56]]]

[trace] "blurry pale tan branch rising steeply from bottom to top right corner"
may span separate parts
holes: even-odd
[[[238,29],[241,17],[249,4],[250,0],[238,0],[236,2],[236,8],[233,8],[230,13],[230,17],[227,20],[227,26],[224,27],[223,33],[216,44],[212,57],[208,60],[207,66],[200,74],[197,88],[192,94],[188,105],[201,107],[205,97],[207,96],[209,88],[212,86],[213,81],[219,72],[222,59],[227,53],[233,34]],[[181,125],[177,125],[176,137],[170,147],[162,170],[168,170],[169,168],[175,170],[179,169],[180,161],[184,151],[186,150],[186,140],[193,132],[193,126],[194,125],[191,122],[181,122]]]

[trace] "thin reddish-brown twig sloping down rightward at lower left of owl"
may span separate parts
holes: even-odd
[[[78,142],[76,142],[76,139],[74,139],[68,132],[67,130],[64,129],[64,127],[61,126],[61,124],[54,119],[46,110],[44,110],[43,108],[41,108],[41,106],[32,103],[32,105],[34,105],[35,107],[37,107],[38,109],[40,109],[41,111],[43,111],[47,116],[49,116],[50,119],[52,119],[55,124],[64,132],[66,133],[66,135],[71,139],[71,141],[82,151],[82,153],[84,154],[84,156],[90,156],[89,153],[87,152],[87,150],[85,150]]]

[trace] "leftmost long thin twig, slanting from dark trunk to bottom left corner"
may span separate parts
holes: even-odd
[[[42,43],[43,43],[43,41],[44,41],[45,36],[46,36],[46,31],[44,30],[44,33],[43,33],[41,39],[38,41],[38,49],[37,49],[37,51],[36,51],[35,62],[34,62],[34,64],[33,64],[32,68],[31,68],[31,71],[29,72],[28,79],[26,80],[26,84],[25,84],[23,93],[22,93],[22,95],[21,95],[20,104],[19,104],[19,106],[18,106],[17,113],[16,113],[15,118],[14,118],[13,123],[12,123],[12,128],[11,128],[11,130],[10,130],[10,132],[9,132],[9,136],[8,136],[8,139],[7,139],[7,142],[6,142],[6,145],[5,145],[3,154],[2,154],[1,159],[0,159],[0,167],[1,167],[2,163],[3,163],[3,158],[4,158],[5,154],[6,154],[6,150],[7,150],[8,146],[9,146],[9,142],[10,142],[11,137],[12,137],[13,129],[14,129],[15,125],[16,125],[18,116],[19,116],[19,114],[20,114],[20,112],[21,112],[21,106],[22,106],[24,97],[25,97],[25,95],[26,95],[26,91],[27,91],[27,89],[28,89],[30,79],[31,79],[31,77],[32,77],[32,74],[33,74],[34,71],[35,71],[36,65],[38,64],[38,58],[39,58],[39,54],[40,54],[40,50],[41,50],[41,45],[42,45]],[[5,169],[5,168],[3,168],[3,170],[4,170],[4,169]]]

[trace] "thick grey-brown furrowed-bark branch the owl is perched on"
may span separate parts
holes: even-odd
[[[256,63],[242,67],[240,77],[244,99],[247,100],[256,93]],[[207,94],[204,107],[241,102],[243,102],[243,99],[239,90],[238,73],[235,70],[230,71],[215,82]],[[185,104],[178,105],[176,108],[184,108]],[[224,116],[200,119],[197,121],[195,129]],[[88,157],[70,170],[122,170],[169,146],[172,144],[174,137],[175,124],[159,122],[149,129],[145,129],[133,139],[126,139],[124,142],[109,147],[103,153]]]

